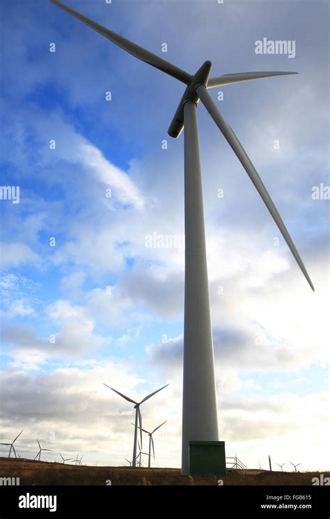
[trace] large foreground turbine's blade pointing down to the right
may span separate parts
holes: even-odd
[[[231,148],[233,148],[233,151],[235,152],[235,155],[237,155],[239,162],[241,162],[246,173],[251,178],[253,185],[256,187],[258,193],[260,194],[262,200],[265,203],[265,206],[272,215],[274,222],[278,226],[278,229],[281,231],[283,238],[285,239],[285,242],[287,242],[288,247],[294,256],[294,259],[297,261],[299,267],[301,268],[301,272],[303,272],[304,276],[306,277],[306,280],[308,281],[309,286],[311,286],[311,289],[314,291],[312,281],[308,276],[307,270],[304,266],[304,263],[301,260],[301,257],[299,256],[296,247],[294,246],[294,243],[292,242],[290,234],[288,233],[288,230],[285,227],[283,220],[281,219],[281,216],[278,213],[278,210],[274,206],[274,203],[271,197],[269,196],[269,193],[267,192],[265,185],[263,185],[260,176],[258,175],[255,167],[253,166],[248,155],[246,154],[242,144],[239,142],[230,126],[226,123],[223,116],[221,116],[216,104],[213,102],[209,93],[207,93],[206,88],[204,86],[198,86],[196,91],[198,92],[201,101],[203,102],[205,108],[212,117],[214,123],[216,123],[217,127],[219,127],[219,130],[222,132],[223,137],[225,137],[225,139],[228,141],[228,144],[230,144]]]

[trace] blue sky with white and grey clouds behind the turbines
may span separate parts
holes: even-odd
[[[329,469],[329,4],[67,3],[191,74],[299,72],[209,92],[315,293],[198,105],[219,439],[250,468]],[[168,384],[143,426],[166,420],[152,463],[180,467],[183,134],[167,129],[184,85],[47,0],[3,0],[0,24],[0,442],[24,429],[20,456],[38,437],[45,459],[123,465],[133,405],[102,382],[136,401]],[[256,54],[263,38],[294,55]]]

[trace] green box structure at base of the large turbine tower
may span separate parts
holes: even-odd
[[[226,476],[225,442],[189,442],[191,476]]]

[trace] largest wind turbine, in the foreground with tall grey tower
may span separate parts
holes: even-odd
[[[214,350],[210,316],[210,297],[207,279],[201,162],[198,144],[196,106],[201,100],[219,127],[228,144],[241,162],[253,185],[267,206],[274,222],[303,272],[308,284],[314,287],[304,263],[292,242],[278,210],[262,183],[251,160],[231,127],[213,102],[207,88],[223,86],[297,72],[242,72],[210,77],[212,63],[205,63],[194,75],[159,58],[143,47],[93,22],[58,0],[51,0],[70,15],[116,43],[134,57],[152,65],[186,85],[168,134],[179,137],[184,128],[184,226],[185,226],[185,282],[184,282],[184,360],[182,403],[182,474],[189,474],[189,441],[218,441],[217,390],[214,375]],[[196,281],[197,280],[197,281]],[[135,453],[136,454],[136,453]],[[135,460],[135,457],[134,457]]]

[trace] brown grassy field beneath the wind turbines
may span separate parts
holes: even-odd
[[[0,458],[0,478],[19,477],[20,485],[311,485],[319,472],[230,470],[226,477],[182,477],[179,469],[91,467],[28,459]],[[324,477],[330,477],[329,472]]]

